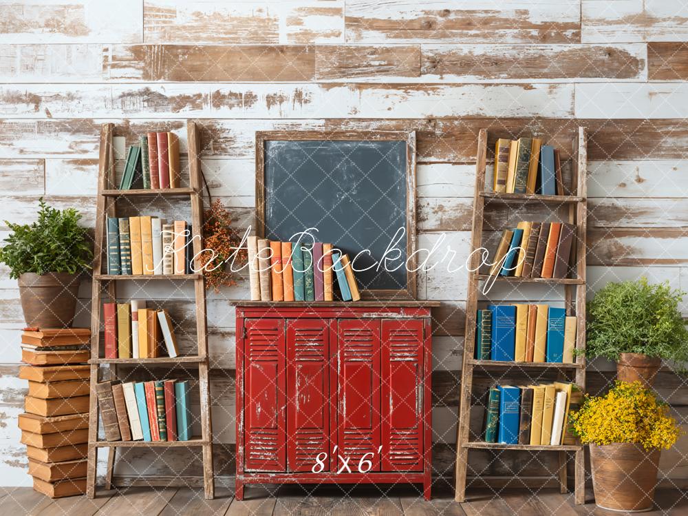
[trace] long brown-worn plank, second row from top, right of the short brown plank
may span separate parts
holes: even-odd
[[[647,79],[645,45],[422,45],[422,77],[444,82]]]

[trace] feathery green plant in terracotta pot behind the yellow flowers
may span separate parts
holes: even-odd
[[[585,354],[616,360],[619,380],[652,386],[662,360],[688,363],[688,330],[678,311],[683,292],[647,278],[609,283],[588,302]]]

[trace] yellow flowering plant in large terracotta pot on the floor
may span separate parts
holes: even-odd
[[[570,413],[574,435],[590,445],[592,486],[600,508],[652,508],[662,448],[674,446],[680,427],[641,382],[616,381],[604,396],[585,396]]]

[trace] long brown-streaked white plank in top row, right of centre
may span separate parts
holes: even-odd
[[[506,0],[495,9],[480,1],[347,0],[345,25],[347,41],[358,43],[578,43],[580,16],[577,2]]]

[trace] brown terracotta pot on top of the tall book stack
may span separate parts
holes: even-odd
[[[39,328],[71,326],[78,289],[78,274],[25,272],[19,276],[19,298],[26,324]]]

